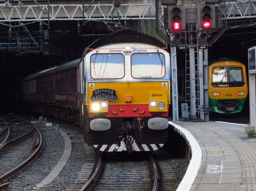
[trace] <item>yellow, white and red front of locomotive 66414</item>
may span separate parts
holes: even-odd
[[[88,142],[104,152],[155,151],[168,137],[169,53],[145,43],[113,43],[88,52]]]

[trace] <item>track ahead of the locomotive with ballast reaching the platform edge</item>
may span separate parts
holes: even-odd
[[[179,169],[179,159],[155,161],[153,157],[147,156],[141,160],[108,161],[102,159],[100,154],[96,158],[95,163],[90,161],[84,164],[77,180],[66,191],[175,190],[186,172],[186,168]],[[182,163],[188,164],[188,161],[183,160]]]

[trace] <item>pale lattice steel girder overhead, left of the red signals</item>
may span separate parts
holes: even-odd
[[[83,11],[83,8],[85,11]],[[49,11],[48,11],[49,10]],[[84,16],[83,16],[84,12]],[[58,4],[15,5],[0,4],[0,22],[43,20],[142,20],[155,19],[155,4]]]

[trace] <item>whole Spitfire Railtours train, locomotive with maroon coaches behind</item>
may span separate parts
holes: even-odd
[[[170,65],[162,42],[122,29],[81,58],[24,78],[22,103],[84,127],[100,151],[156,151],[168,138]]]

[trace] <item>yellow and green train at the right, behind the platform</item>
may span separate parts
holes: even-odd
[[[248,96],[246,67],[243,63],[221,58],[208,67],[209,108],[214,113],[243,111]]]

